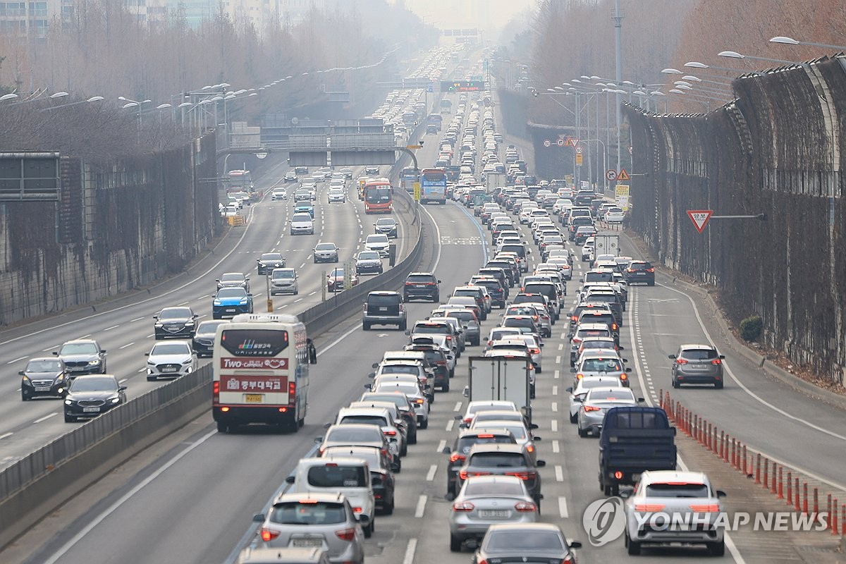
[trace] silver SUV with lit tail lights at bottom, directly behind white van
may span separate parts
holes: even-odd
[[[343,494],[282,494],[253,520],[261,523],[264,548],[316,548],[332,561],[365,561],[364,531]]]

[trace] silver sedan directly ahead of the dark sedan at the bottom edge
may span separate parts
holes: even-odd
[[[449,550],[481,539],[494,523],[535,523],[537,506],[517,476],[470,476],[449,515]]]

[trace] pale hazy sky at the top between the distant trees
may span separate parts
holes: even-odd
[[[477,25],[498,30],[514,14],[535,5],[535,0],[393,0],[405,3],[426,23],[445,29],[451,25]]]

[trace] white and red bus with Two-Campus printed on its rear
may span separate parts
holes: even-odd
[[[298,430],[316,356],[295,315],[242,314],[217,327],[211,384],[217,430],[250,423]]]

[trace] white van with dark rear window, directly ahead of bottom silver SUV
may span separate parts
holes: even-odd
[[[376,500],[373,497],[370,467],[362,458],[300,458],[294,474],[285,479],[290,494],[339,493],[349,500],[365,537],[373,534]]]

